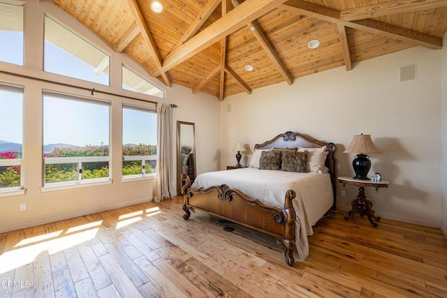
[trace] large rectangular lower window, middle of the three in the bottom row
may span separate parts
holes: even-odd
[[[45,185],[110,179],[110,103],[43,96]]]

